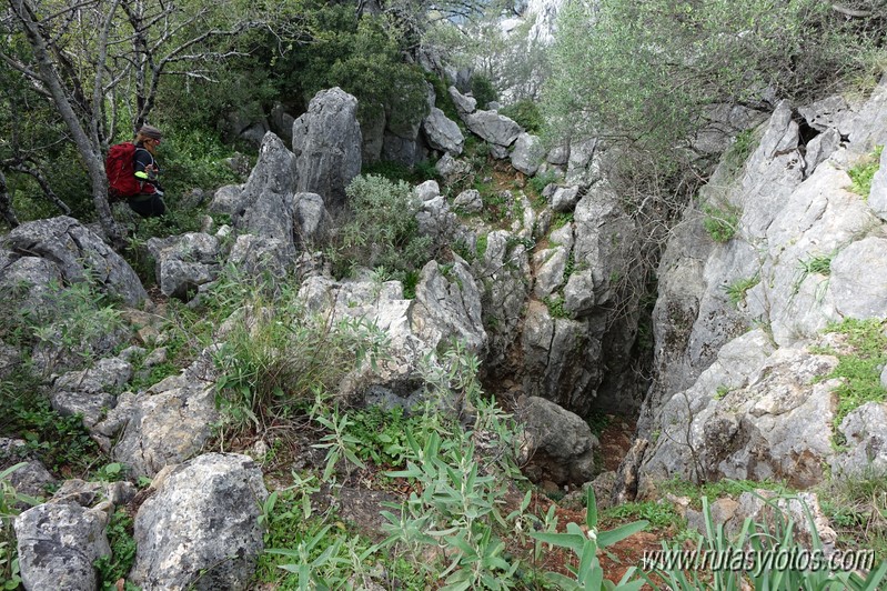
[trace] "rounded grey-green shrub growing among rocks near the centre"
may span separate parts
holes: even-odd
[[[415,214],[421,203],[412,187],[384,177],[360,176],[346,193],[352,218],[327,249],[336,277],[362,266],[384,268],[400,279],[432,258],[432,239],[419,233]]]

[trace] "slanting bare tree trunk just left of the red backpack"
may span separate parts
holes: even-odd
[[[68,126],[68,130],[73,137],[74,146],[77,146],[83,164],[87,167],[92,183],[92,200],[95,204],[99,222],[108,240],[111,241],[111,244],[114,248],[120,248],[123,246],[123,236],[117,222],[114,222],[114,218],[111,214],[111,206],[108,203],[108,179],[104,174],[101,148],[90,141],[89,134],[80,124],[80,120],[68,100],[68,96],[56,73],[56,69],[52,67],[47,41],[37,24],[32,8],[26,0],[10,0],[10,4],[22,26],[24,34],[28,38],[28,43],[34,52],[34,58],[39,67],[40,80],[46,84],[50,97],[52,97],[52,102],[59,110],[65,126]],[[98,140],[98,138],[95,139]]]

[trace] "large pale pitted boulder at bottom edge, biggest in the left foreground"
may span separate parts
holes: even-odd
[[[264,550],[268,491],[246,455],[206,453],[152,483],[135,515],[130,580],[145,591],[245,589]]]

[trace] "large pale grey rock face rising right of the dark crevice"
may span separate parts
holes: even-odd
[[[838,361],[812,351],[839,349],[839,334],[820,334],[829,322],[887,315],[885,227],[877,206],[848,190],[846,172],[887,138],[885,111],[885,84],[861,106],[802,108],[820,131],[805,150],[809,133],[780,103],[742,170],[722,164],[702,192],[709,207],[733,208],[735,237],[712,241],[710,210],[691,206],[658,273],[657,380],[638,427],[655,441],[641,467],[647,484],[681,474],[809,487],[824,465],[849,474],[880,461],[869,420],[879,409],[857,409],[836,432],[840,382],[826,378]],[[746,332],[754,324],[766,331]]]

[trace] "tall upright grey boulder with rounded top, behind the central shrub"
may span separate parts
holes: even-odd
[[[345,202],[345,188],[361,172],[363,139],[357,99],[340,88],[317,92],[293,124],[296,192],[317,193],[330,208]]]

